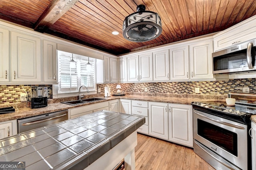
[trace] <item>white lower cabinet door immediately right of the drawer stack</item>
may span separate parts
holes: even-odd
[[[168,104],[149,102],[149,134],[168,139]]]

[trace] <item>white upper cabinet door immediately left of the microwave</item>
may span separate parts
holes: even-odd
[[[212,73],[212,41],[192,44],[190,49],[190,79],[210,79]]]

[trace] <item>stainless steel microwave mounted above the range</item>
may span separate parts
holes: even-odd
[[[213,73],[254,71],[254,42],[249,41],[212,53]]]

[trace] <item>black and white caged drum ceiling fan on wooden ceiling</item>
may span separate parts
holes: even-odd
[[[144,5],[124,20],[123,36],[132,42],[154,40],[162,33],[161,18],[156,12],[145,11]]]

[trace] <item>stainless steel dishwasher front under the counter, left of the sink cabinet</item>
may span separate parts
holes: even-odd
[[[68,110],[18,119],[18,133],[68,120]]]

